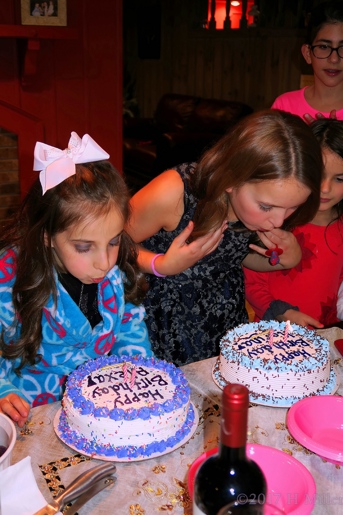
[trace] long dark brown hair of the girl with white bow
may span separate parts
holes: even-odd
[[[12,301],[20,337],[6,345],[4,330],[0,345],[7,359],[22,358],[16,372],[41,359],[43,307],[52,294],[57,305],[55,270],[59,270],[51,248],[51,238],[77,225],[86,216],[96,217],[116,209],[124,221],[130,217],[129,191],[109,161],[77,164],[76,174],[42,195],[39,179],[27,194],[21,210],[7,222],[0,235],[0,252],[16,251],[16,279]],[[45,237],[47,245],[45,245]],[[138,305],[145,297],[147,284],[137,264],[137,246],[123,233],[118,252],[118,267],[125,273],[125,301]]]

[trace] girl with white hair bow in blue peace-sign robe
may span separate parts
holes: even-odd
[[[87,359],[153,355],[127,187],[88,134],[71,136],[64,151],[36,144],[40,179],[0,236],[0,411],[21,427]]]

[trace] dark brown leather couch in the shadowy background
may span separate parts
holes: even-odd
[[[241,102],[167,94],[154,118],[123,118],[123,168],[133,192],[162,171],[196,161],[240,118]]]

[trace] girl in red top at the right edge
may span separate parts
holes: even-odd
[[[255,321],[290,320],[321,329],[343,318],[341,310],[337,317],[337,305],[343,302],[338,293],[343,277],[343,121],[318,120],[311,130],[322,149],[324,175],[317,213],[311,222],[294,229],[301,261],[274,273],[244,268],[245,294]]]

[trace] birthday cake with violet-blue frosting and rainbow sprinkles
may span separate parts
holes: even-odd
[[[139,459],[172,450],[193,423],[179,368],[154,357],[103,356],[69,375],[58,428],[86,454]]]

